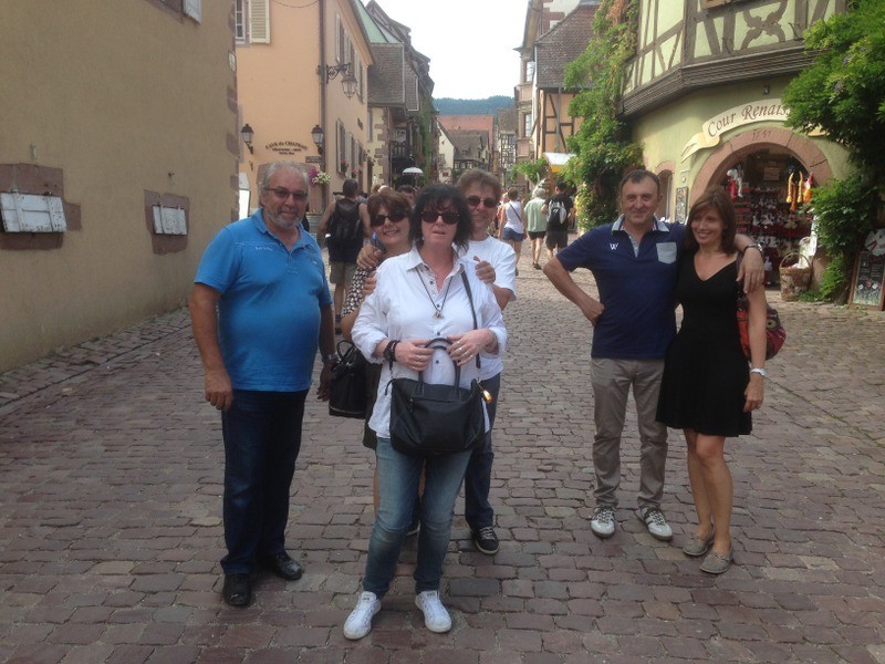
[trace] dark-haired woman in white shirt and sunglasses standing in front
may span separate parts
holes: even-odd
[[[344,623],[347,639],[362,639],[372,630],[372,618],[396,571],[425,465],[427,483],[419,508],[415,603],[424,613],[428,630],[451,629],[451,618],[439,600],[439,583],[455,500],[470,452],[429,457],[396,452],[389,437],[391,393],[385,387],[394,377],[417,378],[419,372],[425,382],[450,384],[455,376],[452,363],[460,367],[460,385],[467,387],[479,375],[477,355],[491,357],[503,352],[507,331],[494,295],[477,278],[471,261],[459,258],[470,231],[470,210],[458,189],[448,185],[424,189],[409,222],[415,246],[408,253],[381,264],[375,291],[363,302],[353,326],[356,345],[371,362],[383,363],[383,369],[369,419],[378,437],[379,506],[368,543],[363,592]],[[425,347],[439,336],[451,342],[448,350]]]

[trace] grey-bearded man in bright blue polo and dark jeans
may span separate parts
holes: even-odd
[[[308,177],[293,162],[275,162],[259,199],[261,208],[209,243],[189,302],[206,401],[221,411],[228,549],[221,593],[232,606],[251,602],[258,564],[290,581],[303,573],[285,551],[289,489],[317,345],[322,400],[335,357],[325,268],[301,227]]]

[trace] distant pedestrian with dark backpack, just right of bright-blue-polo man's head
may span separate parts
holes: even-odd
[[[326,206],[316,230],[316,237],[326,238],[329,249],[329,280],[335,284],[335,332],[340,332],[341,309],[356,271],[356,256],[363,239],[372,235],[366,204],[358,198],[360,183],[345,179],[344,196]]]

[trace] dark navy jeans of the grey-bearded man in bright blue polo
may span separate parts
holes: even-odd
[[[235,390],[233,405],[221,413],[226,574],[251,573],[259,557],[285,550],[289,488],[306,395],[306,390]]]

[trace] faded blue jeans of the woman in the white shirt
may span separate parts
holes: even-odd
[[[399,454],[389,438],[378,438],[378,516],[368,541],[368,559],[363,590],[383,598],[399,560],[399,549],[418,500],[418,479],[426,466],[424,497],[420,500],[421,529],[418,532],[418,564],[415,593],[439,590],[442,562],[451,536],[455,500],[461,490],[469,452],[431,457]]]

